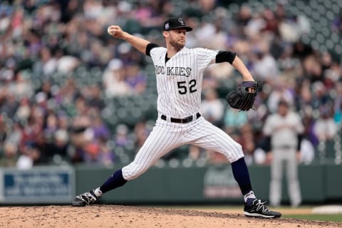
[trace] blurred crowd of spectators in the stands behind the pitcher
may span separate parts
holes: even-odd
[[[309,164],[314,148],[333,140],[341,125],[341,59],[302,41],[309,19],[291,14],[286,4],[254,10],[223,0],[1,1],[0,166],[128,162],[153,124],[110,125],[105,110],[108,100],[155,93],[147,83],[153,73],[149,58],[111,38],[107,27],[118,24],[163,46],[161,24],[169,16],[182,16],[195,28],[187,33],[187,47],[234,51],[262,82],[255,110],[239,112],[223,98],[242,77],[229,64],[210,66],[204,118],[242,144],[249,164],[266,164],[263,123],[285,100],[303,121],[300,159]],[[338,14],[331,33],[341,33]],[[184,151],[172,156],[226,161],[196,147]]]

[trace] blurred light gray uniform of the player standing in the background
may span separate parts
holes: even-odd
[[[289,112],[286,116],[274,113],[266,119],[264,134],[271,136],[271,150],[273,160],[271,163],[271,184],[269,200],[273,205],[281,202],[281,179],[283,165],[286,162],[287,185],[291,204],[297,206],[301,203],[301,189],[299,187],[296,152],[298,134],[303,133],[304,126],[298,114]]]

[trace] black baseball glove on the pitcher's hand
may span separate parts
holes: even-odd
[[[259,82],[243,81],[233,93],[227,95],[226,100],[232,108],[247,111],[253,107],[258,86]]]

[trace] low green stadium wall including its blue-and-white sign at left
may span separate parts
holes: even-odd
[[[0,169],[0,204],[70,204],[75,194],[101,185],[118,167],[34,167]],[[254,192],[269,197],[269,166],[250,166]],[[301,165],[304,204],[342,202],[342,165]],[[289,203],[286,181],[284,203]],[[104,204],[229,204],[242,195],[230,165],[152,167],[137,180],[105,194]]]

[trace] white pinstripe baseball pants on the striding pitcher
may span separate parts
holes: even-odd
[[[159,118],[135,159],[123,167],[123,178],[133,180],[160,157],[181,145],[192,144],[224,154],[229,162],[244,157],[242,146],[227,133],[200,117],[190,123],[171,123]]]

